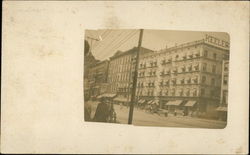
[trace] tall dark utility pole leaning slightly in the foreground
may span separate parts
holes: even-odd
[[[136,63],[135,63],[135,72],[133,77],[133,88],[131,94],[131,101],[130,101],[130,108],[129,108],[129,117],[128,117],[128,124],[132,124],[133,120],[133,111],[134,111],[134,103],[135,103],[135,96],[136,96],[136,84],[137,84],[137,75],[138,75],[138,66],[139,66],[139,56],[140,56],[140,49],[142,43],[142,36],[143,36],[143,29],[140,29],[140,37],[138,42],[138,48],[136,52]]]

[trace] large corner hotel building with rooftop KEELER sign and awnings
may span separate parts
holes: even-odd
[[[220,103],[221,68],[228,55],[229,43],[206,36],[141,56],[137,97],[158,100],[169,110],[183,105],[187,111],[214,116]]]

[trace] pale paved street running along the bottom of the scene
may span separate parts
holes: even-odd
[[[92,103],[92,117],[94,116],[97,102]],[[125,106],[114,105],[117,121],[127,124],[129,109]],[[188,127],[188,128],[224,128],[226,122],[208,120],[190,116],[168,116],[151,114],[144,110],[134,108],[133,125],[138,126],[162,126],[162,127]]]

